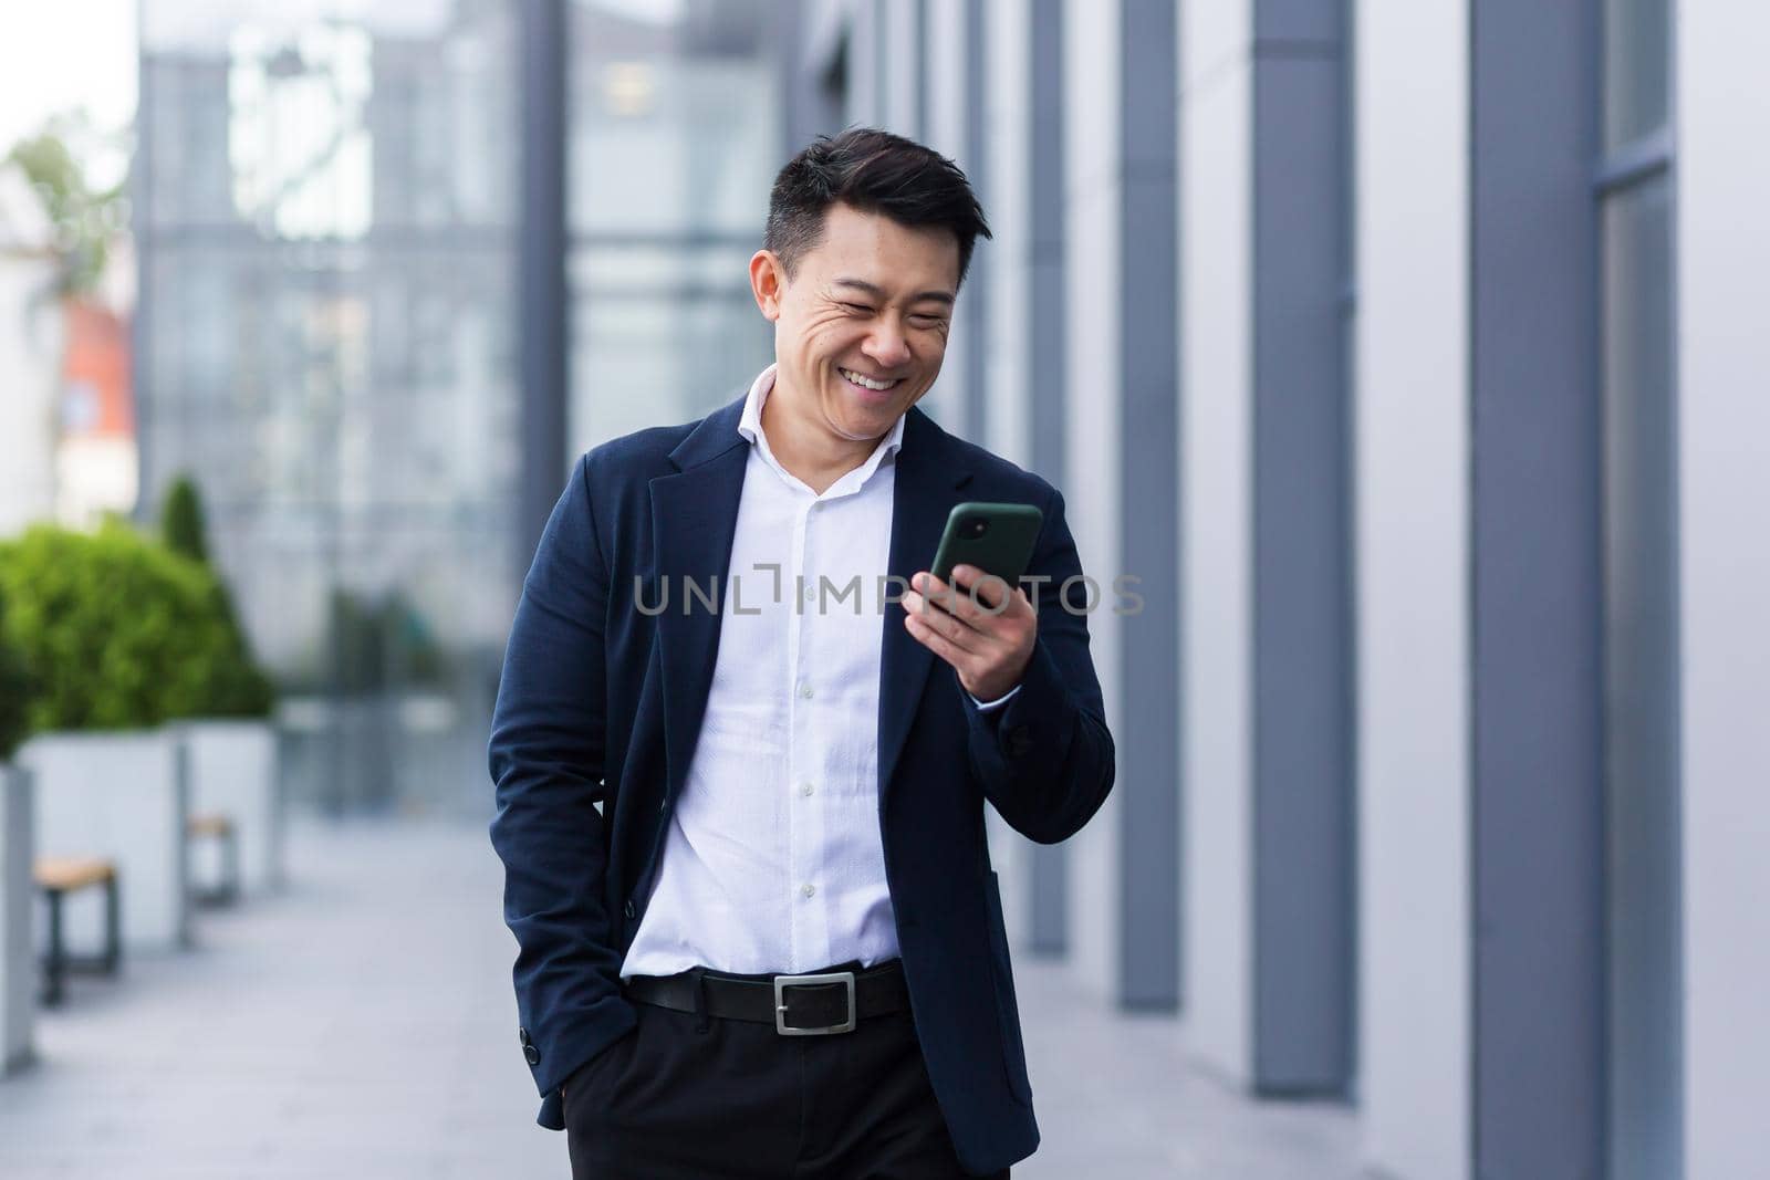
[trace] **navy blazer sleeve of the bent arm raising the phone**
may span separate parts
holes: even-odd
[[[1051,488],[1028,577],[1037,591],[1039,639],[1012,697],[979,709],[965,695],[972,773],[1002,819],[1039,844],[1067,840],[1099,810],[1113,784],[1113,741],[1089,655],[1087,591],[1064,497]],[[1032,593],[1032,591],[1028,591]]]

